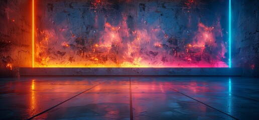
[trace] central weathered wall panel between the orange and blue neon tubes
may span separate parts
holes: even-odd
[[[228,0],[39,0],[37,67],[228,67]]]

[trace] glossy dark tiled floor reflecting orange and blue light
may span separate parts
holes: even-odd
[[[0,78],[1,119],[259,119],[259,79]]]

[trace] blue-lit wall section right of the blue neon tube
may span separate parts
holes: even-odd
[[[259,2],[232,2],[233,67],[244,67],[245,76],[259,77]]]

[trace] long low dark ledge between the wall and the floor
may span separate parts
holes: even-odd
[[[241,76],[242,68],[20,68],[21,76],[80,76],[80,75],[219,75]]]

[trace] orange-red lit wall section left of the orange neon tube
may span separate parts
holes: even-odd
[[[0,0],[0,76],[32,66],[31,0]]]

